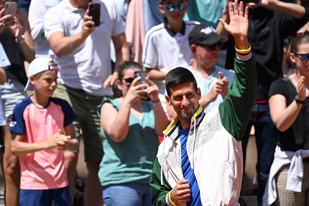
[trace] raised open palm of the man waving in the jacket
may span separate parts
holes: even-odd
[[[243,11],[243,2],[240,2],[238,11],[238,1],[235,0],[234,6],[232,2],[229,2],[229,15],[230,24],[227,24],[223,19],[219,19],[222,23],[224,29],[229,32],[235,38],[236,47],[238,49],[248,49],[248,13],[249,8],[246,6],[245,11]]]

